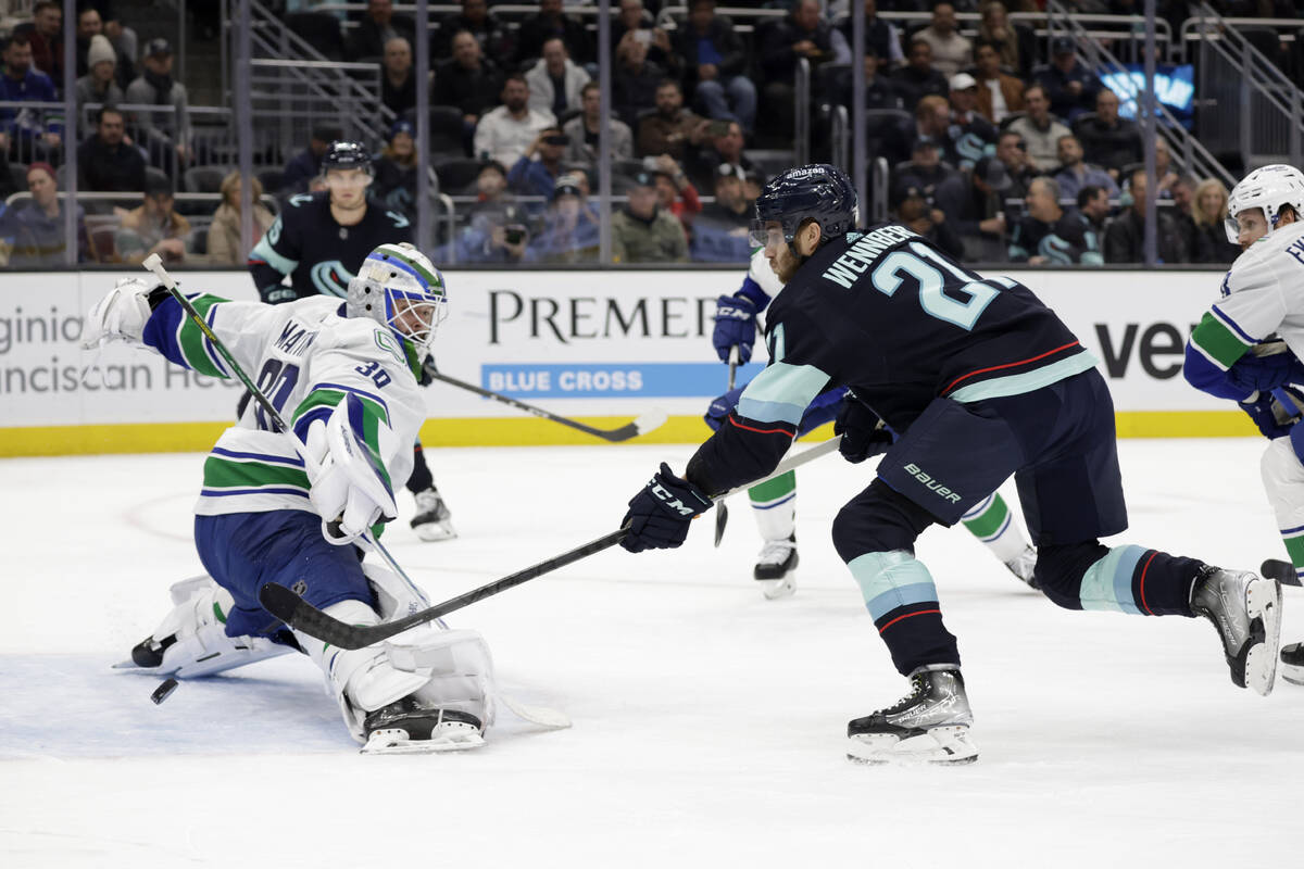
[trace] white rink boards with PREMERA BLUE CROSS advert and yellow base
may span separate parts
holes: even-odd
[[[137,274],[137,272],[123,272]],[[1008,272],[1031,287],[1099,360],[1123,436],[1243,436],[1244,414],[1181,378],[1183,345],[1218,297],[1211,271]],[[205,449],[240,397],[233,382],[149,352],[82,350],[81,317],[113,272],[7,275],[0,300],[0,456]],[[253,300],[243,271],[185,272],[188,291]],[[454,378],[599,427],[651,409],[669,421],[645,443],[705,436],[700,414],[726,374],[711,347],[721,271],[449,272],[450,317],[436,358]],[[39,300],[39,301],[34,301]],[[760,370],[739,371],[745,383]],[[468,391],[425,391],[430,446],[602,443]]]

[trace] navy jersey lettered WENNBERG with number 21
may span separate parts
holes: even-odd
[[[977,275],[897,224],[815,251],[771,302],[767,341],[771,363],[689,465],[708,491],[768,473],[829,386],[904,433],[935,399],[1021,395],[1095,365],[1026,287]]]

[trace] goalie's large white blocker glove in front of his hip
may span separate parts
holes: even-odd
[[[336,546],[352,543],[382,517],[389,521],[399,515],[394,491],[349,423],[355,403],[348,396],[329,422],[318,420],[308,427],[308,496],[322,517],[322,534]]]

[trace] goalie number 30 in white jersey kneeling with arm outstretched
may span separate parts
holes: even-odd
[[[493,672],[479,633],[424,625],[400,634],[399,648],[346,651],[287,629],[258,603],[263,584],[276,582],[352,624],[429,606],[402,577],[364,564],[352,543],[396,516],[391,481],[407,479],[425,418],[417,374],[446,311],[443,276],[412,245],[386,244],[366,257],[346,300],[190,301],[292,430],[276,431],[250,403],[218,439],[194,508],[207,576],[172,586],[173,610],[132,650],[134,664],[190,677],[297,649],[322,668],[364,750],[482,744]],[[232,377],[153,281],[120,281],[86,331],[90,345],[124,340]]]

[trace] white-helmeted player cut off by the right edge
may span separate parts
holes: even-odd
[[[1296,575],[1304,577],[1304,173],[1265,165],[1227,199],[1227,238],[1241,254],[1187,343],[1183,371],[1239,403],[1269,438],[1261,472]],[[1284,344],[1284,347],[1283,347]],[[1282,649],[1282,677],[1304,684],[1301,644]]]

